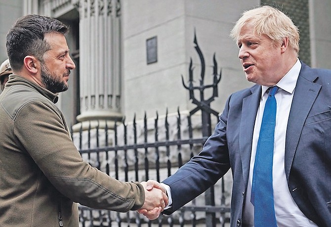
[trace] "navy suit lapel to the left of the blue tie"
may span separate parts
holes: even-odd
[[[249,160],[251,153],[251,143],[253,139],[253,131],[257,108],[261,98],[261,86],[251,88],[252,94],[243,99],[242,118],[240,123],[239,148],[243,166],[243,178],[245,190],[247,188]]]

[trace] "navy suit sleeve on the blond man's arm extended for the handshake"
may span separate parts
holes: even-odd
[[[224,110],[203,150],[163,181],[170,186],[172,198],[172,206],[164,214],[171,214],[184,206],[215,184],[230,169],[226,119],[227,110]]]

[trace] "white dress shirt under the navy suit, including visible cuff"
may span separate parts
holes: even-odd
[[[298,208],[294,202],[285,174],[285,140],[286,130],[290,115],[295,85],[300,73],[301,63],[297,59],[290,71],[277,83],[280,88],[275,94],[277,101],[276,126],[275,126],[275,147],[273,158],[273,189],[275,214],[278,227],[317,227],[310,221]],[[253,178],[254,161],[256,146],[260,133],[263,110],[268,98],[266,91],[269,87],[262,86],[260,104],[255,119],[251,158],[249,164],[249,176],[246,202],[244,204],[243,225],[245,227],[254,227],[254,206],[250,202],[251,183]],[[171,190],[170,187],[162,183],[168,193],[169,203],[165,209],[171,207]]]

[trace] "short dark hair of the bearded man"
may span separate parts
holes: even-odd
[[[20,70],[27,55],[43,62],[43,54],[50,49],[44,40],[47,33],[66,34],[69,27],[61,21],[37,14],[22,16],[7,33],[6,47],[11,68]]]

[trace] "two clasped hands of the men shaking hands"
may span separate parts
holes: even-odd
[[[169,202],[165,187],[153,180],[141,182],[141,184],[145,189],[145,202],[137,212],[149,220],[155,220],[159,218]]]

